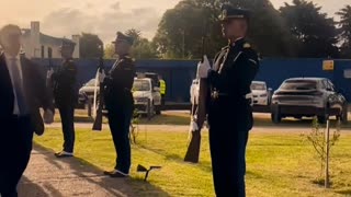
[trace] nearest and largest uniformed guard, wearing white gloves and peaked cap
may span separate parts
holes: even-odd
[[[212,68],[205,58],[197,71],[201,78],[207,78],[211,89],[207,118],[216,196],[244,197],[246,146],[253,125],[250,84],[259,60],[245,39],[249,12],[226,5],[220,21],[229,44],[216,55]]]

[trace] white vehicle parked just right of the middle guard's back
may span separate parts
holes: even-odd
[[[150,78],[134,79],[133,97],[135,108],[139,113],[150,113],[150,115],[161,113],[160,89],[158,86],[152,86],[152,80]]]

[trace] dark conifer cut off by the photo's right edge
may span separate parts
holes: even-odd
[[[340,16],[340,42],[341,42],[341,56],[351,58],[351,5],[346,5],[337,15]]]

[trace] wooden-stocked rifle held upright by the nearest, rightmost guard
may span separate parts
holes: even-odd
[[[202,59],[204,62],[205,56],[205,37],[202,38]],[[199,77],[197,77],[199,78]],[[195,120],[199,129],[192,131],[191,141],[188,147],[188,151],[184,158],[185,162],[199,163],[200,147],[201,147],[201,129],[206,119],[206,96],[207,96],[207,81],[206,79],[200,79],[199,82],[199,102],[197,106],[195,102],[192,105],[191,120]]]

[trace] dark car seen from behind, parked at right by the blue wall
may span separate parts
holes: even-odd
[[[271,111],[273,123],[280,123],[284,117],[301,119],[314,116],[319,123],[325,123],[328,114],[348,121],[346,97],[325,78],[285,80],[273,94]]]

